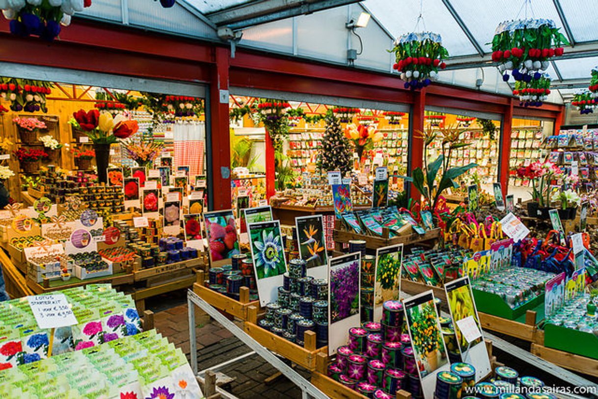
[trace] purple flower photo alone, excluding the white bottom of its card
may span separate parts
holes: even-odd
[[[331,322],[336,322],[359,312],[359,263],[330,271]]]

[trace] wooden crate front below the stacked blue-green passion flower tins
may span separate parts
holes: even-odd
[[[272,352],[276,352],[282,357],[285,357],[308,370],[314,370],[316,368],[316,355],[320,352],[325,354],[328,351],[328,346],[316,349],[316,333],[313,331],[306,331],[304,336],[304,346],[299,346],[283,337],[270,333],[270,331],[261,328],[257,323],[258,308],[249,306],[247,310],[247,321],[244,324],[243,330],[265,348]]]

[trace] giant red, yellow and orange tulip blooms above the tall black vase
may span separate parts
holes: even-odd
[[[102,112],[97,109],[84,111],[80,109],[73,113],[75,121],[93,144],[113,144],[118,139],[126,139],[139,130],[136,120],[127,120],[124,115],[112,117],[109,112]]]

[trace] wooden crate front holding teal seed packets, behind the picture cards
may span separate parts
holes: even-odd
[[[440,229],[429,230],[423,235],[416,233],[392,238],[389,238],[389,230],[386,227],[382,229],[382,237],[368,236],[366,234],[357,234],[340,228],[335,228],[333,232],[334,245],[337,251],[340,251],[341,244],[347,243],[350,240],[364,240],[366,248],[377,249],[389,245],[413,245],[418,243],[424,243],[426,241],[437,240],[438,237],[440,237]]]

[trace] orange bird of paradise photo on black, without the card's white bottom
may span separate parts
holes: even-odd
[[[299,255],[307,262],[307,269],[328,263],[322,215],[295,218]]]

